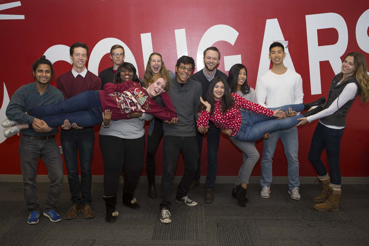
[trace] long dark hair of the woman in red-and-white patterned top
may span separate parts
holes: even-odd
[[[210,85],[209,85],[209,89],[206,93],[206,98],[203,98],[203,100],[210,103],[210,105],[211,105],[210,114],[213,114],[213,112],[214,112],[214,103],[215,103],[213,91],[214,91],[215,84],[217,84],[218,82],[223,82],[223,84],[224,84],[224,94],[223,94],[223,97],[221,99],[222,100],[221,109],[223,111],[223,114],[226,114],[227,110],[229,108],[234,107],[234,100],[232,98],[230,88],[228,86],[227,81],[225,81],[225,79],[223,79],[222,77],[218,76],[218,77],[215,77],[213,80],[211,80]],[[200,104],[199,110],[201,111],[204,108],[205,108],[204,105]]]

